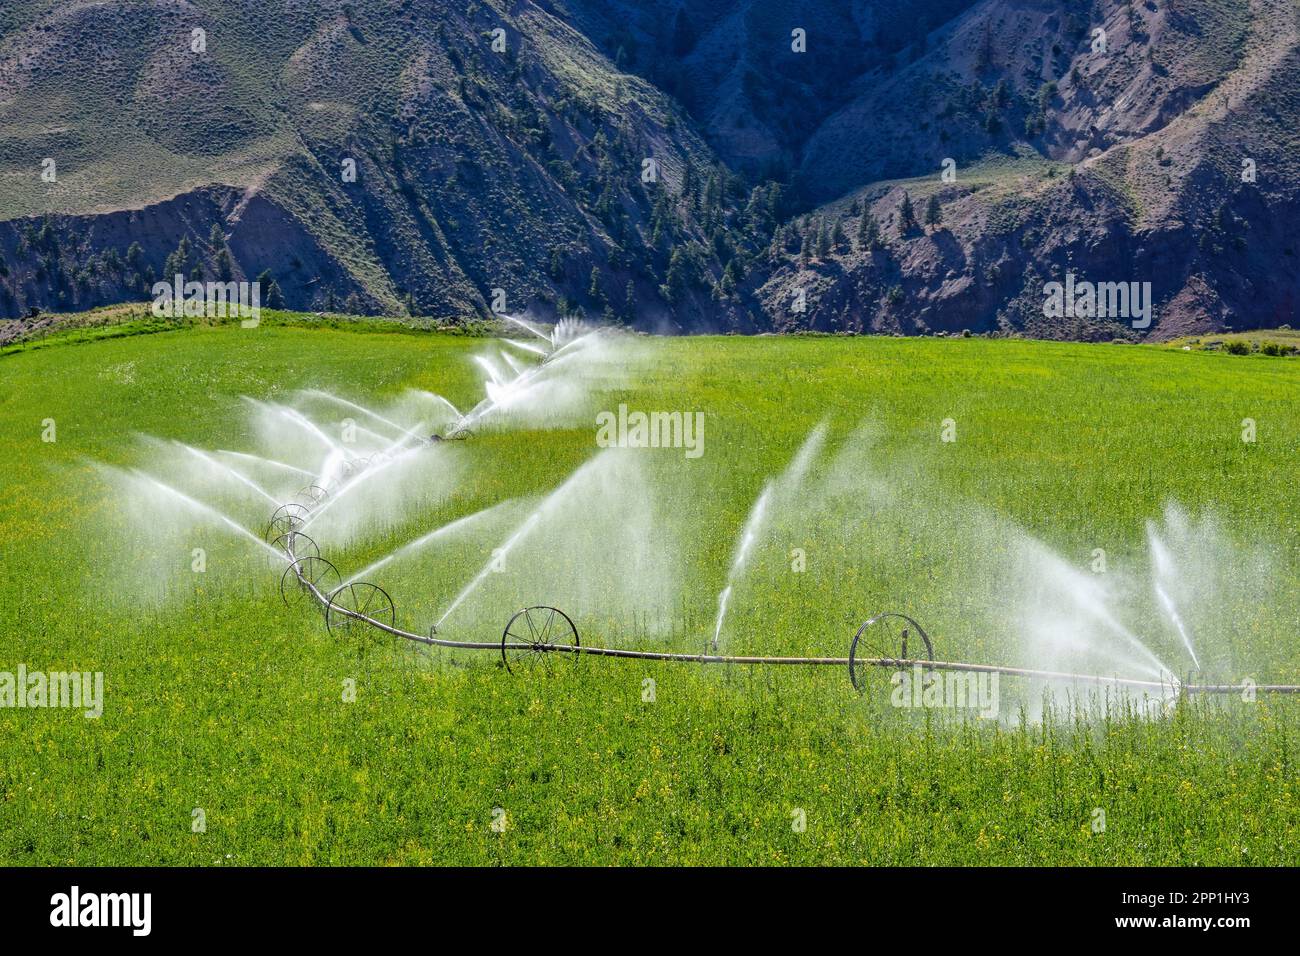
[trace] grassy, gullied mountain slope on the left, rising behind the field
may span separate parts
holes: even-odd
[[[712,165],[702,140],[526,3],[20,13],[0,40],[0,313],[139,294],[182,238],[186,271],[211,277],[213,224],[235,277],[269,271],[294,306],[442,316],[485,311],[495,289],[542,312],[621,307],[628,282],[653,298],[670,238],[702,239],[675,204],[655,216],[688,165]],[[118,268],[130,242],[143,255]]]

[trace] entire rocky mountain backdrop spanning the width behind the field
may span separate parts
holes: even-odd
[[[179,269],[659,330],[1280,325],[1297,57],[1295,0],[10,0],[0,316]],[[1150,324],[1045,313],[1067,277]]]

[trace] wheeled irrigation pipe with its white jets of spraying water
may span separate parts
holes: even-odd
[[[463,438],[472,434],[472,431],[469,429],[471,423],[480,420],[488,411],[500,407],[503,398],[508,397],[511,392],[528,388],[534,376],[537,376],[541,368],[547,363],[550,363],[551,367],[563,363],[568,355],[562,355],[562,352],[571,350],[576,343],[581,342],[588,334],[590,334],[590,330],[585,326],[569,325],[563,329],[556,326],[556,329],[547,336],[520,319],[512,316],[506,316],[506,319],[516,325],[520,325],[521,328],[525,328],[537,338],[546,342],[546,350],[542,350],[540,346],[532,346],[530,342],[512,342],[512,345],[521,346],[524,351],[542,352],[545,355],[543,363],[533,368],[523,369],[510,380],[499,378],[497,376],[495,367],[491,367],[489,363],[489,373],[491,376],[491,380],[489,381],[489,397],[480,402],[478,406],[471,410],[467,415],[460,415],[455,406],[441,395],[434,395],[433,393],[420,393],[422,397],[432,398],[433,401],[445,405],[458,416],[456,421],[443,438],[438,438],[437,436],[429,440],[420,438],[415,431],[408,429],[378,412],[365,408],[364,406],[350,402],[348,399],[337,398],[324,392],[311,393],[338,405],[355,408],[359,412],[365,414],[373,421],[382,423],[384,425],[400,433],[400,437],[398,437],[394,442],[374,453],[369,458],[351,458],[338,444],[332,441],[329,436],[326,436],[302,412],[283,406],[246,399],[250,405],[272,411],[278,418],[291,423],[295,428],[312,436],[328,449],[325,467],[326,475],[322,475],[320,479],[313,479],[311,484],[302,488],[291,501],[278,502],[278,499],[270,496],[266,489],[257,485],[252,479],[216,460],[212,454],[190,446],[182,446],[187,453],[203,460],[209,467],[214,467],[228,476],[238,479],[242,484],[256,490],[261,497],[277,502],[277,507],[272,512],[266,524],[265,535],[261,538],[229,515],[222,514],[205,502],[185,494],[152,475],[146,475],[139,471],[134,471],[131,473],[138,480],[152,486],[155,490],[162,492],[168,497],[172,497],[191,510],[216,519],[239,537],[251,540],[260,549],[265,549],[274,554],[285,563],[280,578],[281,598],[286,605],[317,606],[322,609],[324,622],[330,633],[373,636],[389,635],[421,645],[445,646],[462,650],[489,650],[500,654],[504,669],[507,672],[512,674],[530,666],[550,669],[552,662],[563,661],[566,658],[571,662],[576,662],[585,656],[696,665],[716,663],[844,667],[849,672],[852,685],[859,692],[864,689],[867,676],[872,671],[897,671],[919,667],[924,674],[937,671],[1000,674],[1032,680],[1128,688],[1158,695],[1161,698],[1167,698],[1173,695],[1186,696],[1193,693],[1239,695],[1247,688],[1264,693],[1300,693],[1300,684],[1226,684],[1192,680],[1179,682],[1167,669],[1164,667],[1164,665],[1158,662],[1158,659],[1154,658],[1153,654],[1150,654],[1150,652],[1147,652],[1147,654],[1158,667],[1156,671],[1156,679],[936,659],[935,643],[931,636],[914,617],[901,611],[884,611],[870,617],[853,633],[849,641],[848,654],[845,657],[740,656],[716,653],[723,624],[732,600],[733,588],[740,574],[744,571],[750,559],[755,541],[763,532],[771,498],[774,493],[784,492],[788,486],[797,485],[802,480],[816,447],[824,438],[824,428],[822,425],[812,429],[800,451],[786,467],[785,472],[764,484],[763,490],[750,510],[750,515],[742,528],[740,540],[737,541],[727,583],[719,594],[718,617],[712,640],[707,645],[712,653],[692,654],[585,645],[580,639],[578,627],[575,620],[566,611],[552,605],[532,605],[515,611],[506,622],[500,637],[495,640],[452,640],[439,633],[438,628],[442,627],[448,617],[474,593],[474,591],[486,579],[488,574],[493,570],[493,567],[495,567],[497,562],[526,536],[534,532],[549,507],[566,492],[566,489],[571,489],[573,486],[575,479],[582,473],[592,462],[588,462],[588,464],[575,471],[569,479],[567,479],[562,485],[551,492],[551,494],[547,496],[541,505],[538,505],[532,515],[515,528],[503,546],[494,553],[493,561],[469,580],[469,583],[460,591],[455,600],[452,600],[428,633],[416,633],[402,628],[398,626],[396,606],[389,592],[378,584],[364,579],[387,566],[395,558],[417,550],[443,535],[450,535],[454,531],[488,515],[489,512],[503,507],[508,502],[500,502],[430,531],[396,548],[384,558],[372,562],[365,568],[346,580],[342,578],[338,568],[321,554],[320,546],[316,541],[308,537],[304,532],[313,524],[313,522],[320,519],[321,515],[328,512],[332,507],[335,507],[339,501],[347,498],[352,490],[364,486],[377,473],[417,451],[419,447],[426,446],[433,441],[456,437]],[[419,444],[403,447],[412,438],[416,438]],[[243,460],[277,467],[282,471],[298,472],[302,476],[312,476],[312,473],[307,470],[298,468],[296,466],[286,464],[283,462],[260,458],[257,455],[234,451],[220,451],[213,454],[231,455]],[[1191,635],[1183,624],[1182,617],[1178,614],[1178,609],[1174,605],[1173,597],[1170,597],[1169,589],[1165,587],[1166,581],[1164,579],[1169,576],[1169,558],[1165,553],[1162,542],[1156,538],[1153,532],[1152,544],[1158,564],[1157,578],[1154,581],[1157,598],[1166,617],[1176,628],[1178,635],[1183,640],[1188,653],[1192,656],[1193,662],[1196,662],[1197,658],[1192,648]],[[1145,645],[1138,641],[1135,635],[1131,635],[1126,628],[1119,626],[1118,622],[1109,618],[1104,610],[1092,610],[1092,614],[1100,614],[1105,618],[1105,623],[1108,623],[1108,626],[1115,628],[1119,633],[1136,644],[1138,648],[1147,650]]]

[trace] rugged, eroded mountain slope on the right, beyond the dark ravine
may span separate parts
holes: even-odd
[[[776,324],[1109,338],[1294,321],[1300,303],[1288,225],[1300,213],[1288,121],[1300,107],[1295,5],[1265,0],[1244,10],[1182,3],[1134,16],[1126,9],[1106,8],[1105,56],[1080,39],[1067,57],[1056,43],[1063,78],[1040,86],[1037,112],[1026,99],[1045,75],[1035,51],[1057,36],[1039,20],[1054,14],[1044,4],[1015,3],[982,4],[926,59],[828,120],[803,160],[805,174],[828,194],[849,181],[836,181],[826,157],[863,148],[855,139],[863,135],[861,117],[872,114],[875,129],[887,127],[889,103],[915,122],[910,135],[872,153],[868,178],[926,165],[933,172],[854,191],[853,202],[835,200],[807,217],[807,234],[836,222],[853,234],[862,207],[884,238],[871,250],[845,245],[807,261],[779,250],[757,290]],[[1238,30],[1234,13],[1248,13]],[[1002,64],[1002,105],[980,85],[978,111],[963,116],[940,107],[923,77],[937,77],[937,64],[965,64],[966,73],[946,75],[959,77],[956,88],[968,92],[963,83],[979,73],[970,49],[994,29],[1046,39],[1023,44],[1022,59]],[[1213,51],[1188,39],[1209,35],[1222,40]],[[976,125],[980,111],[985,122]],[[1032,142],[1006,135],[1017,122],[1028,122]],[[950,182],[940,176],[945,150],[962,157]],[[1002,151],[1022,159],[991,159]],[[982,159],[966,165],[967,156]],[[918,225],[901,232],[905,194]],[[931,196],[941,221],[927,226],[919,220]],[[1135,330],[1132,316],[1046,317],[1046,284],[1065,282],[1069,273],[1079,281],[1149,282],[1149,330]],[[806,311],[796,313],[790,303],[800,290]]]

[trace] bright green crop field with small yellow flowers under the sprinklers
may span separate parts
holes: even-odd
[[[104,672],[99,719],[0,709],[0,864],[1300,862],[1300,700],[1143,715],[1057,688],[1040,714],[1044,688],[1008,679],[1002,718],[979,719],[892,708],[887,675],[858,695],[838,667],[588,658],[511,675],[491,653],[329,635],[318,610],[283,606],[259,549],[118,471],[183,459],[142,436],[254,449],[240,395],[315,388],[385,410],[422,389],[465,408],[493,349],[226,326],[0,356],[0,670]],[[481,428],[358,494],[361,518],[322,553],[347,576],[515,502],[374,575],[399,623],[428,630],[604,455],[442,632],[494,640],[516,607],[558,604],[584,644],[699,652],[751,505],[824,423],[806,480],[774,488],[725,652],[842,656],[894,609],[940,658],[1032,666],[1044,607],[1078,614],[1044,581],[1079,575],[1183,672],[1145,587],[1153,522],[1191,542],[1180,611],[1204,671],[1297,683],[1297,397],[1300,364],[1264,355],[629,337],[564,414]],[[703,412],[705,454],[601,451],[593,415],[620,402]],[[220,506],[259,535],[270,511],[233,486]]]

